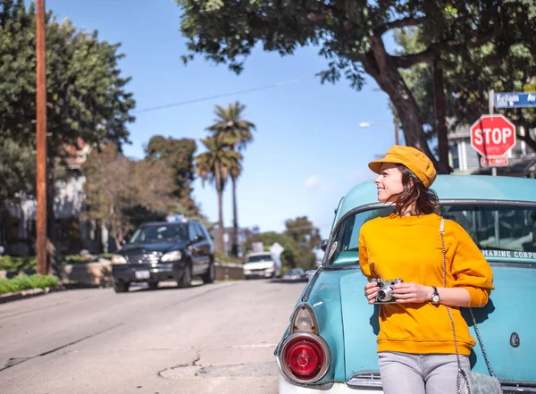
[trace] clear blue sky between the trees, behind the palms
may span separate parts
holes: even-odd
[[[149,6],[148,4],[151,4]],[[58,20],[69,17],[80,29],[98,30],[99,38],[121,42],[124,76],[137,109],[169,105],[239,90],[282,84],[253,93],[136,113],[130,124],[126,155],[143,157],[151,136],[205,138],[214,105],[239,100],[247,119],[255,122],[254,142],[244,152],[239,180],[239,224],[261,231],[282,231],[286,219],[307,215],[329,235],[340,197],[358,182],[372,180],[367,163],[394,143],[392,117],[385,93],[367,77],[362,91],[346,80],[321,85],[314,74],[326,68],[318,48],[299,49],[281,57],[258,48],[239,76],[225,65],[203,58],[183,65],[185,40],[180,34],[180,8],[172,0],[47,0]],[[392,47],[392,42],[388,43]],[[359,123],[373,126],[360,128]],[[376,122],[374,124],[374,122]],[[197,153],[202,146],[197,142]],[[217,198],[210,185],[194,183],[194,198],[211,221],[217,221]],[[223,197],[225,225],[230,225],[230,188]]]

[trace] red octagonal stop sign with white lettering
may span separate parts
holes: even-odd
[[[503,115],[482,115],[471,126],[471,146],[483,157],[505,155],[515,146],[515,124]]]

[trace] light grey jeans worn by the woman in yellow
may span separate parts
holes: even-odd
[[[456,355],[381,352],[378,356],[385,394],[456,394]],[[460,363],[470,371],[468,356],[460,356]],[[464,393],[465,381],[460,382]]]

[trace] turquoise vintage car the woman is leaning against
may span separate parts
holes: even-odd
[[[474,309],[490,363],[505,394],[536,393],[536,180],[440,175],[444,217],[463,225],[494,272],[487,306]],[[275,350],[280,394],[382,393],[376,354],[378,306],[363,295],[359,229],[392,208],[376,202],[372,181],[341,199],[322,266],[306,285]],[[465,315],[472,331],[471,318]],[[473,371],[487,373],[482,351]]]

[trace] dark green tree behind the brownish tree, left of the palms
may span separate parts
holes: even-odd
[[[146,158],[151,161],[161,160],[175,172],[176,189],[173,195],[179,199],[181,214],[188,217],[199,215],[199,207],[191,197],[192,181],[196,170],[194,154],[197,144],[190,138],[164,138],[153,136],[145,147]]]

